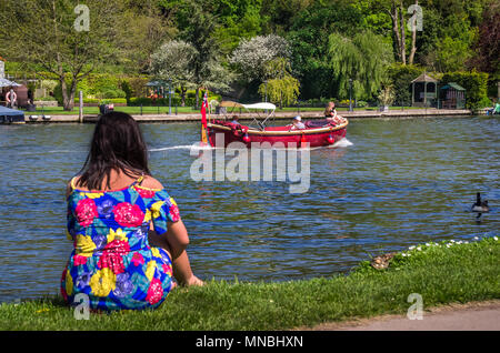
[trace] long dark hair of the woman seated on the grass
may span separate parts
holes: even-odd
[[[122,171],[130,178],[151,174],[139,124],[123,112],[109,112],[98,120],[78,184],[101,190],[106,180],[107,188],[111,189],[112,170]]]

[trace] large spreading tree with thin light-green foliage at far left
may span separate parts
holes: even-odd
[[[0,49],[11,60],[37,65],[62,88],[63,108],[72,110],[77,84],[114,56],[114,0],[4,0],[0,4]]]

